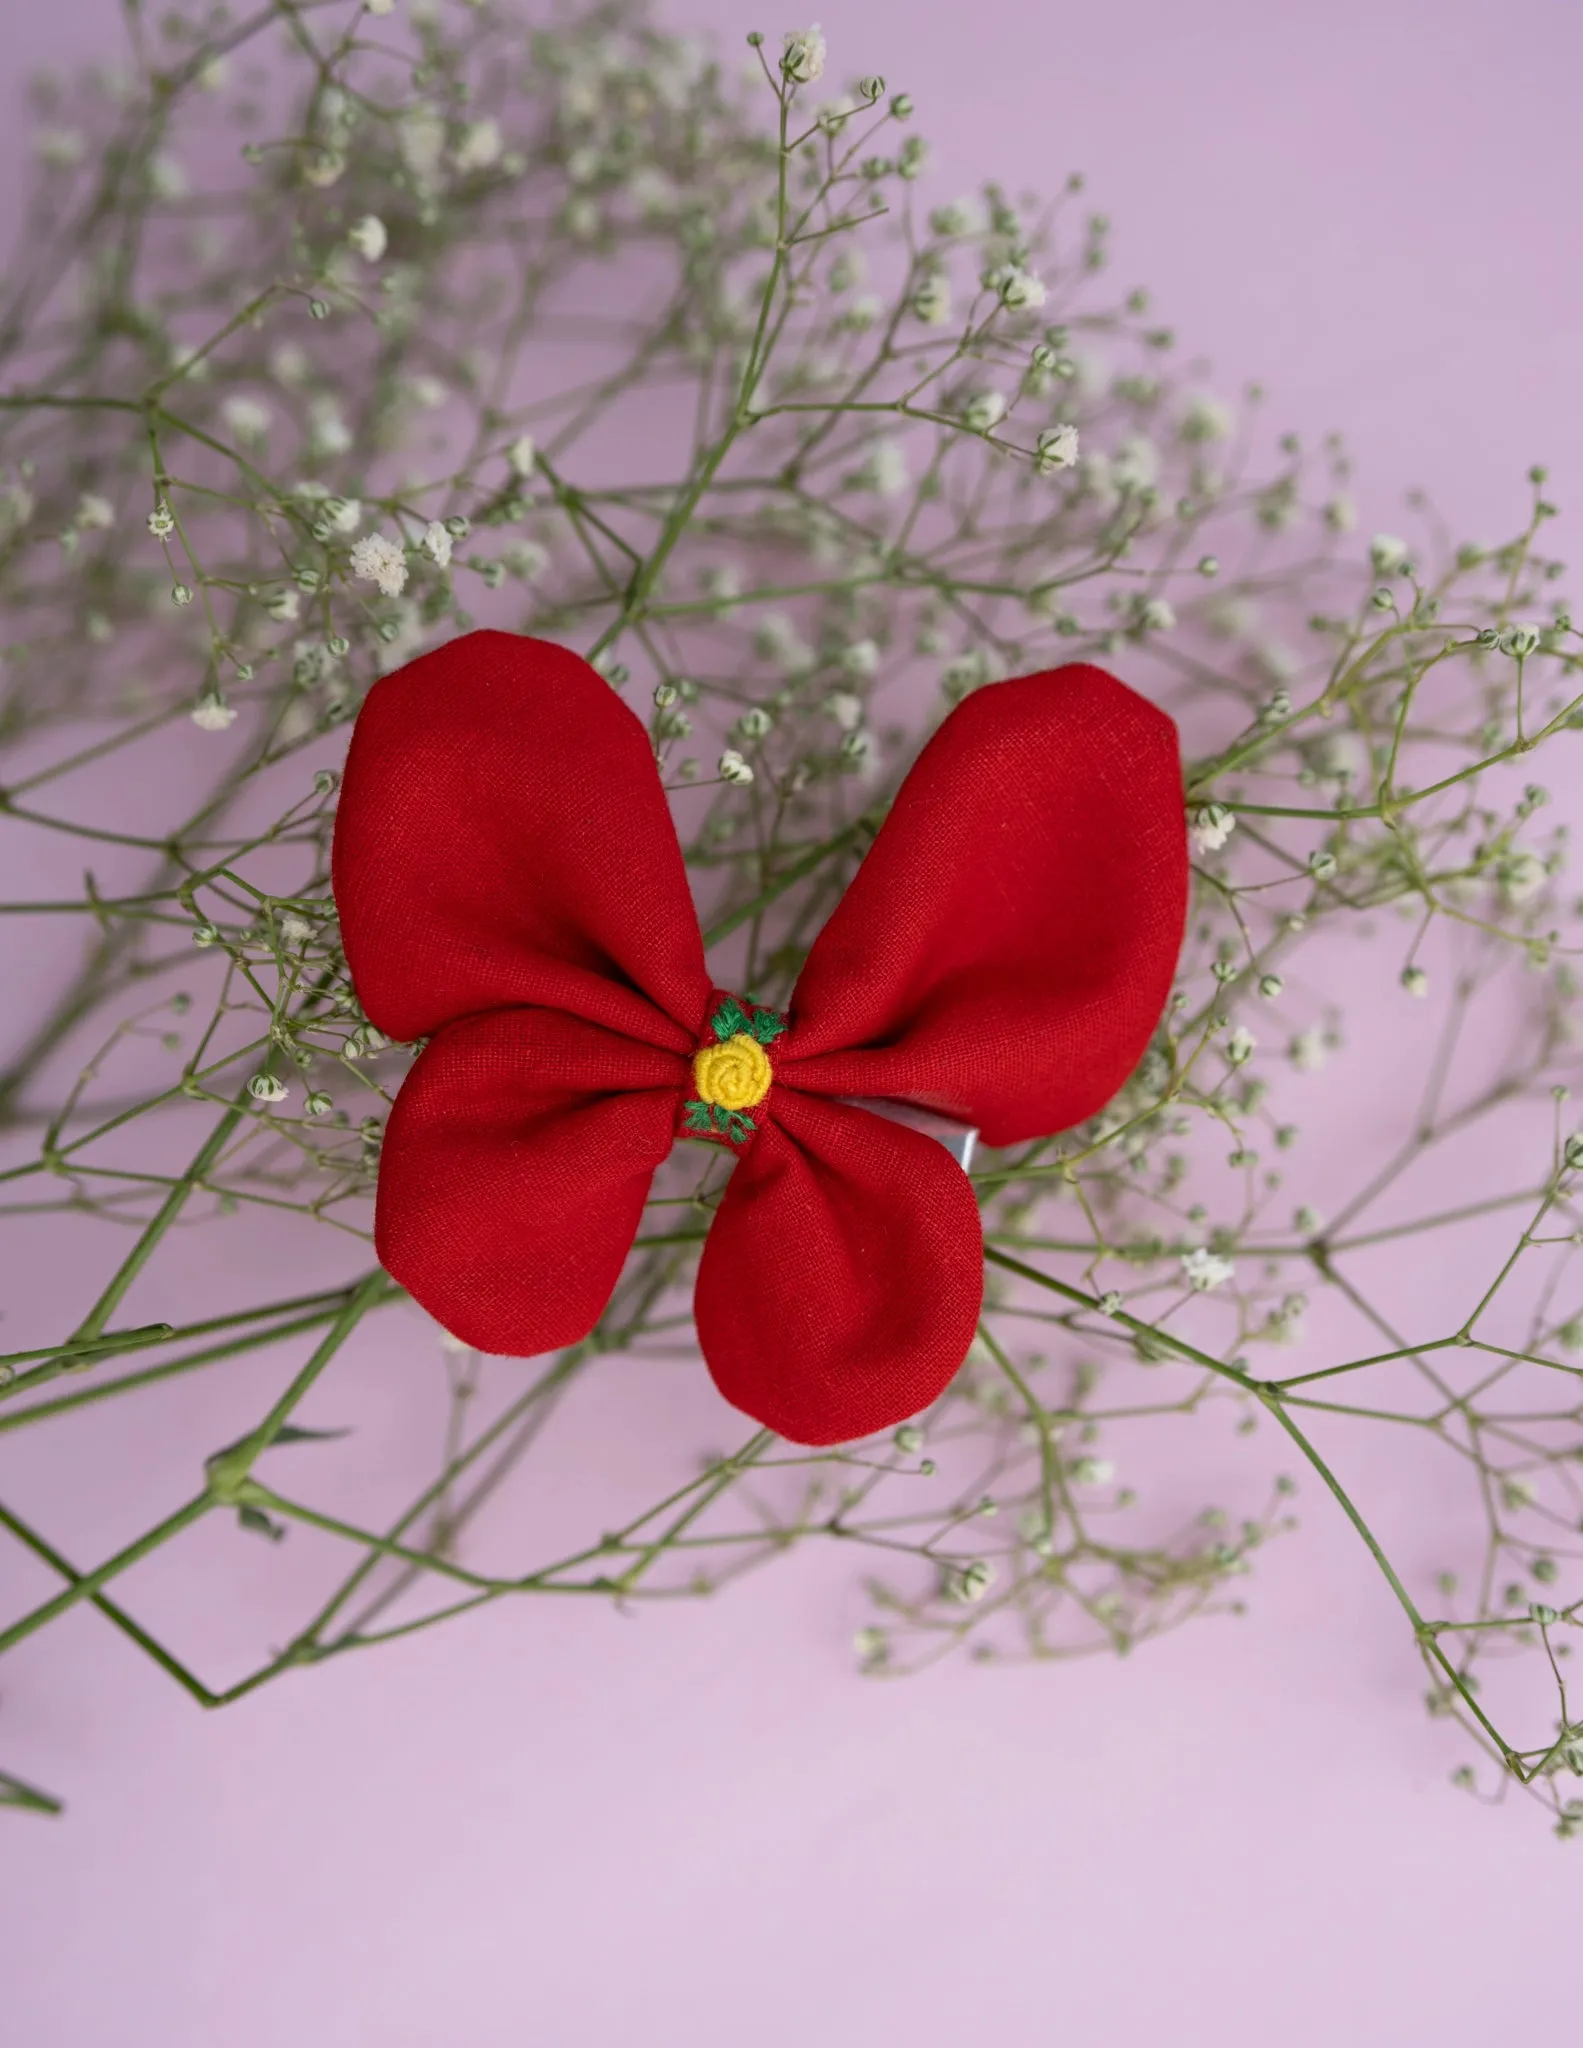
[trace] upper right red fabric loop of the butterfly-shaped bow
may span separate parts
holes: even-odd
[[[989,1145],[1065,1130],[1143,1057],[1186,903],[1171,721],[1081,664],[989,684],[813,942],[786,1079],[917,1102]]]

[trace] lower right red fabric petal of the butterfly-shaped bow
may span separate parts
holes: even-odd
[[[776,1090],[698,1266],[698,1341],[725,1399],[795,1444],[846,1444],[950,1384],[983,1300],[973,1188],[868,1110]]]

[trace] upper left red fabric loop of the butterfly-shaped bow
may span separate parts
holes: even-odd
[[[653,750],[565,647],[467,633],[373,686],[334,889],[389,1038],[530,1004],[692,1047],[711,983]]]

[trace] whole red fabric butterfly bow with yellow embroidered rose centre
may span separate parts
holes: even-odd
[[[973,1341],[979,1206],[936,1139],[844,1098],[989,1145],[1092,1116],[1159,1020],[1186,885],[1171,721],[1098,668],[991,684],[924,748],[780,1018],[711,981],[610,684],[469,633],[369,692],[336,825],[362,1008],[430,1040],[385,1133],[379,1257],[483,1352],[573,1343],[655,1167],[709,1137],[735,1153],[694,1294],[715,1384],[801,1444],[885,1430]]]

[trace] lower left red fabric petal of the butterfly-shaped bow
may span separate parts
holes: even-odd
[[[672,1147],[688,1063],[557,1010],[440,1030],[385,1130],[375,1249],[481,1352],[532,1358],[604,1313]]]

